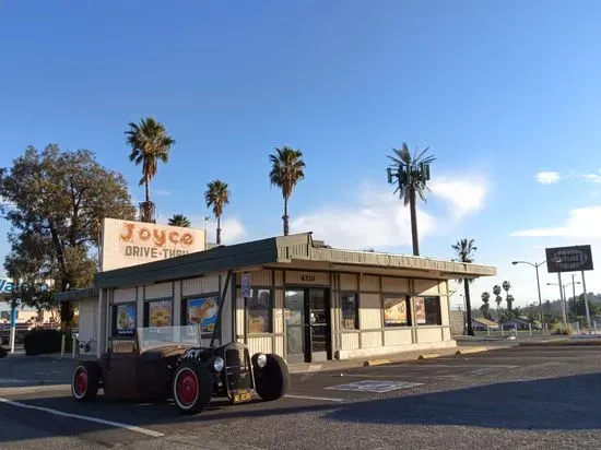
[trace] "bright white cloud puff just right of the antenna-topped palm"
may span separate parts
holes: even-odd
[[[445,178],[433,180],[429,190],[448,203],[449,211],[456,218],[480,210],[487,193],[483,182],[450,181]]]

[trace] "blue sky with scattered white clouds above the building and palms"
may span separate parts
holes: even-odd
[[[291,145],[307,163],[293,232],[411,253],[387,155],[429,146],[422,254],[451,258],[473,237],[476,261],[499,272],[474,283],[474,305],[503,280],[523,305],[534,273],[512,259],[591,244],[601,264],[599,16],[594,1],[3,0],[0,164],[30,144],[91,149],[141,199],[123,131],[151,115],[177,141],[152,183],[161,221],[203,227],[202,193],[220,178],[226,244],[281,234],[268,155]],[[557,297],[541,276],[543,298]],[[601,291],[594,272],[587,287]]]

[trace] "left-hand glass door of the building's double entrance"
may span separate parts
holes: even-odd
[[[286,289],[284,299],[286,319],[286,359],[288,363],[304,363],[306,354],[305,291]]]

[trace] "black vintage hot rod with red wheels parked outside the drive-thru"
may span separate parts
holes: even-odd
[[[197,414],[213,396],[232,403],[249,402],[255,393],[266,401],[282,398],[290,386],[283,358],[263,353],[250,356],[239,342],[214,346],[224,296],[225,292],[209,346],[200,345],[200,325],[138,329],[132,342],[116,344],[97,360],[76,365],[71,382],[75,401],[93,401],[103,389],[108,399],[173,399],[181,414]]]

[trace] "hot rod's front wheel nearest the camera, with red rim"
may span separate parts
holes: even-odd
[[[173,396],[181,414],[198,414],[207,407],[213,393],[209,369],[197,362],[186,362],[175,371]]]

